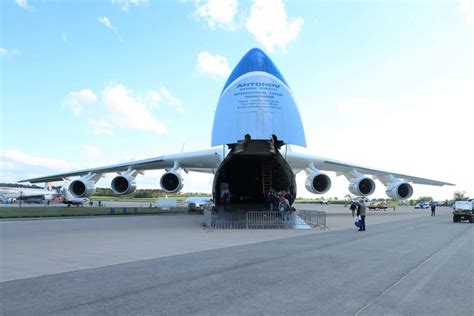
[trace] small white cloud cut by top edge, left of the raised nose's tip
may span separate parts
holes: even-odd
[[[193,16],[207,21],[207,24],[215,29],[216,26],[223,28],[234,28],[234,17],[237,13],[237,0],[208,0],[201,4],[197,1],[198,8]]]

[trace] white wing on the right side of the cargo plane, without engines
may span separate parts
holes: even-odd
[[[367,168],[363,166],[354,165],[348,162],[338,161],[325,157],[318,157],[309,154],[296,153],[296,152],[287,152],[286,160],[290,164],[291,168],[296,171],[305,170],[307,168],[314,167],[321,171],[333,171],[337,175],[347,175],[351,173],[360,173],[364,175],[372,175],[377,179],[383,179],[384,177],[394,177],[402,179],[408,182],[413,182],[416,184],[427,184],[435,186],[443,185],[455,185],[453,183],[425,179],[415,176],[410,176],[401,173],[395,173],[384,170],[377,170],[372,168]]]

